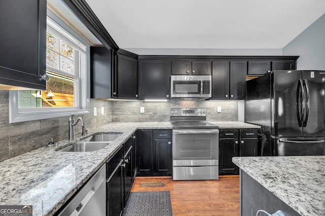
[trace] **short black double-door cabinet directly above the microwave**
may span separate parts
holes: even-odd
[[[211,75],[211,61],[172,60],[172,75]]]

